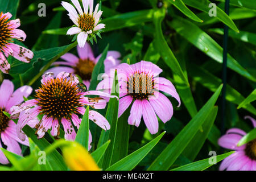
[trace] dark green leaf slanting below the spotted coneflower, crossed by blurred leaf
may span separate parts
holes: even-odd
[[[40,148],[40,150],[43,151],[48,146],[51,146],[51,144],[45,138],[38,139],[35,135],[35,130],[32,129],[30,126],[24,126],[23,131],[27,135],[27,137],[33,140],[33,142]],[[62,156],[59,152],[57,152],[57,150],[53,150],[51,154],[48,154],[47,159],[54,171],[63,171],[67,169],[67,166],[65,165]]]

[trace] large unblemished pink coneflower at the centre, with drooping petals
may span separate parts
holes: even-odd
[[[130,125],[139,126],[141,117],[143,116],[144,123],[151,134],[158,132],[158,117],[166,123],[174,113],[170,100],[160,91],[170,94],[176,98],[180,106],[180,97],[177,94],[174,85],[166,78],[157,77],[161,72],[157,65],[141,61],[132,65],[122,63],[117,67],[119,80],[119,112],[120,117],[123,112],[131,106],[128,123]],[[113,69],[112,69],[113,70]],[[102,80],[97,90],[111,91],[114,72],[108,73],[108,76]]]

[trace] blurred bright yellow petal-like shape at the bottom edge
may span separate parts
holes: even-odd
[[[63,147],[63,158],[73,171],[100,171],[92,156],[79,143],[72,142]]]

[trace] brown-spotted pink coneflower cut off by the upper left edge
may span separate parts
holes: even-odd
[[[11,16],[10,13],[0,13],[0,69],[3,73],[9,73],[11,68],[6,59],[9,55],[25,63],[29,63],[34,56],[29,49],[11,43],[12,39],[26,39],[24,31],[16,29],[20,26],[20,20],[9,20]]]

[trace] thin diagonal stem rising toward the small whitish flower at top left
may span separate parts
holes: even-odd
[[[56,55],[55,57],[53,57],[53,59],[51,59],[44,67],[43,69],[38,73],[38,75],[36,75],[34,78],[32,78],[32,80],[30,80],[30,82],[28,82],[27,85],[32,85],[34,84],[34,82],[36,80],[38,80],[38,78],[40,76],[43,75],[44,72],[47,71],[47,69],[52,65],[52,63],[54,63],[57,59],[60,58],[60,56],[63,56],[65,53],[67,53],[68,51],[70,51],[73,47],[76,47],[77,46],[77,41],[70,44],[66,49],[64,49],[64,51],[60,52],[58,55]]]

